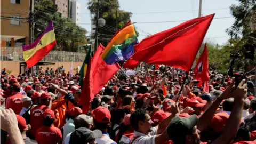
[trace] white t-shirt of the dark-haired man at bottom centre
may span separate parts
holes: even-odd
[[[152,128],[152,131],[146,135],[137,131],[134,131],[133,138],[131,139],[131,142],[134,138],[136,138],[131,144],[155,144],[155,135],[156,135],[157,129],[155,127]],[[137,138],[137,136],[139,136]]]

